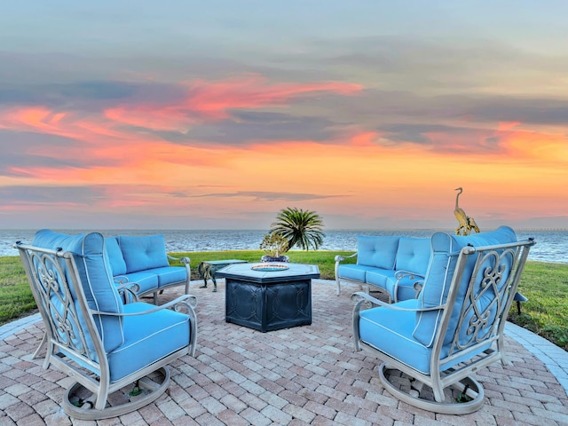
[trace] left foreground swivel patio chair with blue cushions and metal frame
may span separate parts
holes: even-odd
[[[76,381],[63,398],[65,412],[106,419],[160,397],[170,383],[168,364],[194,355],[195,298],[161,306],[138,302],[136,291],[124,298],[100,233],[38,234],[34,246],[16,247],[45,324],[43,368],[56,367]],[[134,302],[123,303],[129,299]]]

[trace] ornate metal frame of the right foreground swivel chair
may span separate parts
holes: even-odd
[[[467,414],[477,411],[477,409],[483,406],[485,395],[483,386],[472,375],[479,368],[486,367],[499,360],[501,360],[503,365],[509,365],[509,360],[504,351],[504,328],[514,295],[517,293],[518,282],[525,267],[529,249],[533,244],[535,244],[535,241],[531,239],[509,244],[461,248],[446,303],[439,306],[410,310],[401,308],[397,304],[386,304],[363,292],[355,293],[352,296],[357,302],[353,311],[353,341],[355,350],[367,351],[376,358],[383,360],[383,364],[379,367],[381,383],[390,393],[402,401],[424,410],[442,414]],[[460,301],[458,300],[460,284],[464,278],[464,271],[470,256],[477,256],[476,264],[471,277],[468,277],[468,288],[465,292],[465,297]],[[503,264],[507,256],[512,256],[511,270],[509,275],[505,277],[506,282],[502,283]],[[488,264],[491,265],[489,266]],[[424,282],[424,287],[426,286],[428,286],[428,278]],[[497,296],[481,312],[478,309],[477,302],[489,290],[493,291]],[[422,374],[412,366],[391,357],[389,354],[381,351],[380,348],[375,348],[375,346],[371,346],[360,339],[359,312],[369,306],[379,306],[380,309],[399,311],[441,312],[441,320],[436,331],[429,360],[430,375]],[[460,309],[461,312],[457,327],[451,329],[449,325],[454,309]],[[497,312],[497,314],[491,315],[491,310]],[[470,317],[469,324],[465,324],[463,321],[469,313],[473,313],[473,315]],[[464,330],[468,336],[467,342],[463,341]],[[447,334],[452,334],[453,339],[448,355],[441,358],[440,353]],[[478,353],[488,343],[491,346],[485,349],[485,351]],[[468,357],[470,358],[468,359]],[[441,366],[445,364],[451,365],[456,360],[461,362],[442,371]],[[391,381],[390,377],[392,375],[387,374],[387,370],[390,369],[398,370],[398,372],[409,376],[411,382],[415,384],[414,391],[403,390],[395,383],[396,381]],[[420,393],[424,385],[431,388],[434,400],[421,398]],[[445,390],[450,387],[455,387],[461,392],[462,402],[448,401]]]

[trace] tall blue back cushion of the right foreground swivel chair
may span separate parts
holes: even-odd
[[[423,308],[439,306],[446,303],[446,298],[450,289],[450,285],[454,278],[455,264],[460,253],[461,248],[468,244],[473,247],[488,246],[494,244],[503,244],[517,241],[517,235],[508,226],[501,226],[500,228],[487,232],[477,233],[468,236],[450,235],[447,233],[435,233],[432,235],[432,260],[430,269],[427,273],[424,286],[418,298],[420,305]],[[445,338],[445,343],[452,340],[452,335],[455,330],[458,317],[460,315],[461,304],[463,297],[468,286],[468,282],[473,271],[476,256],[470,256],[469,262],[466,264],[463,279],[460,286],[460,292],[456,299],[454,306],[453,316],[450,319],[448,326],[448,334]],[[512,259],[510,260],[512,263]],[[479,286],[480,283],[477,283]],[[436,330],[441,319],[441,312],[418,312],[416,314],[416,327],[414,329],[414,337],[425,344],[430,346],[433,343]]]

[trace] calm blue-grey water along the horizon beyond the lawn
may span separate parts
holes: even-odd
[[[85,233],[73,230],[65,233]],[[258,249],[265,231],[187,231],[187,230],[103,230],[105,236],[112,235],[152,235],[162,233],[166,249],[180,251],[220,251]],[[321,249],[355,250],[358,235],[406,235],[428,237],[435,230],[406,231],[325,231],[326,237]],[[31,243],[36,230],[0,230],[0,256],[18,256],[12,248],[15,241]],[[519,240],[534,237],[537,244],[531,248],[529,259],[542,262],[568,264],[568,230],[517,231]]]

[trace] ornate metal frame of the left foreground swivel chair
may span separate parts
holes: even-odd
[[[194,296],[180,296],[168,304],[144,312],[99,312],[92,310],[87,304],[75,264],[75,256],[79,255],[24,244],[17,244],[16,248],[20,250],[22,264],[45,324],[43,341],[33,356],[36,358],[46,344],[43,368],[47,369],[52,365],[75,379],[76,383],[68,388],[62,402],[64,410],[70,416],[82,420],[99,420],[130,413],[146,406],[168,388],[168,364],[188,353],[194,356],[197,337],[197,319],[193,311],[196,305]],[[130,289],[126,288],[124,291]],[[135,293],[132,295],[135,296]],[[106,351],[93,315],[126,317],[168,308],[177,312],[185,311],[189,315],[188,345],[111,383]],[[93,359],[98,359],[98,362]],[[108,402],[109,395],[132,383],[135,388],[144,389],[142,395],[130,398],[123,404],[111,406]],[[76,394],[85,393],[85,390],[87,397],[81,398],[77,404],[77,401],[74,401],[77,399]]]

